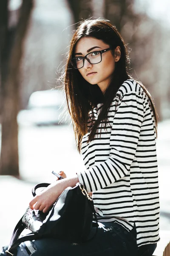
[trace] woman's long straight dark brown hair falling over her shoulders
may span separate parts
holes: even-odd
[[[105,42],[105,44],[108,44],[113,49],[113,54],[114,49],[116,49],[117,46],[119,46],[121,49],[121,58],[115,63],[115,70],[104,95],[97,84],[91,85],[88,83],[79,73],[79,71],[74,69],[71,65],[71,58],[74,57],[75,46],[77,41],[82,37],[93,37],[102,40]],[[91,141],[94,139],[99,123],[101,121],[106,122],[108,109],[114,96],[116,95],[116,92],[119,90],[119,87],[125,80],[132,79],[128,73],[129,63],[130,61],[125,43],[116,27],[111,25],[108,20],[101,18],[96,20],[87,19],[79,23],[79,26],[71,39],[65,73],[63,75],[68,111],[72,118],[77,149],[79,152],[81,151],[82,137],[88,131],[89,111],[91,111],[99,102],[103,103],[98,119],[91,128],[89,134],[88,141]],[[144,85],[139,81],[136,82],[141,85],[150,101],[157,135],[157,113],[153,100]]]

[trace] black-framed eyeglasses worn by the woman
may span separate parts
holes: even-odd
[[[91,64],[97,64],[102,61],[102,53],[107,52],[111,50],[112,48],[107,48],[102,51],[95,51],[95,52],[90,52],[87,55],[75,57],[71,59],[71,65],[75,69],[80,69],[84,66],[85,59],[90,62]]]

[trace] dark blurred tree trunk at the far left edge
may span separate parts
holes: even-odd
[[[18,24],[16,28],[10,30],[7,28],[8,19],[6,18],[8,7],[4,2],[7,1],[1,0],[0,3],[0,12],[2,12],[2,15],[4,13],[0,28],[0,38],[4,38],[0,48],[2,124],[0,175],[19,176],[17,113],[20,91],[20,63],[23,55],[23,39],[26,36],[33,0],[23,0]]]

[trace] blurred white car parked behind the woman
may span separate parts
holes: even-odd
[[[62,115],[65,101],[61,90],[44,90],[31,94],[27,110],[17,115],[19,125],[57,125],[65,124]],[[65,111],[64,111],[65,112]]]

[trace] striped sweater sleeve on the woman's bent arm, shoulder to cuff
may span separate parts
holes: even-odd
[[[110,137],[108,159],[89,169],[77,173],[79,182],[88,192],[103,189],[124,177],[136,154],[144,106],[141,94],[135,91],[125,93],[113,111],[113,125]]]

